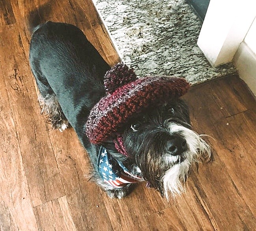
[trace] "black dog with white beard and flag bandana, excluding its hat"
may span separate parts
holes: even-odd
[[[86,122],[106,95],[104,76],[111,70],[77,27],[54,22],[37,26],[29,59],[43,112],[53,128],[63,131],[70,124],[75,129],[90,156],[93,179],[111,198],[126,196],[131,183],[142,180],[166,198],[168,192],[179,194],[191,164],[211,156],[177,97],[127,118],[118,137],[90,143]]]

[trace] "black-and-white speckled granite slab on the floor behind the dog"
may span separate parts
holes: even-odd
[[[211,67],[196,45],[202,22],[185,0],[93,0],[123,61],[139,76],[176,75],[197,84],[234,73]]]

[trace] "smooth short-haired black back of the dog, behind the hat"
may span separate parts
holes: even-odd
[[[56,95],[69,123],[82,132],[90,109],[105,94],[108,64],[80,29],[55,22],[37,26],[29,59],[42,97]]]

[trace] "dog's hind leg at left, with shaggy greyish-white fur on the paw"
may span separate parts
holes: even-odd
[[[37,67],[38,65],[33,63],[31,66],[39,90],[38,100],[41,107],[41,114],[45,115],[53,129],[59,129],[63,132],[68,127],[69,122],[62,111],[58,99],[47,79],[40,72],[40,68]]]

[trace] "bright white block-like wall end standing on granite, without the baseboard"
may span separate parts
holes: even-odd
[[[198,46],[212,66],[231,62],[256,16],[256,0],[211,0]]]

